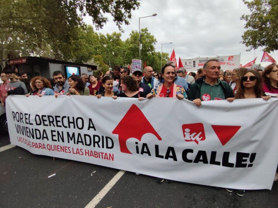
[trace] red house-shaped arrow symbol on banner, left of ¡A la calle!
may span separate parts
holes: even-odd
[[[141,141],[143,135],[147,133],[154,134],[158,140],[162,140],[142,111],[135,104],[130,107],[126,115],[123,116],[122,120],[112,132],[112,134],[119,135],[121,152],[128,154],[132,153],[128,150],[126,141],[129,138],[136,138]]]

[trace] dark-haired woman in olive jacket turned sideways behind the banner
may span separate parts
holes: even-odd
[[[68,78],[68,89],[67,95],[90,95],[89,88],[86,87],[81,77],[78,75],[72,75]]]

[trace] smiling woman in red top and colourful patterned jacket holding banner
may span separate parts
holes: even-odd
[[[174,83],[175,78],[175,69],[171,66],[171,63],[165,64],[161,69],[162,79],[164,83],[156,85],[152,89],[151,93],[147,95],[147,98],[151,99],[152,97],[176,97],[179,100],[187,99],[185,90]]]

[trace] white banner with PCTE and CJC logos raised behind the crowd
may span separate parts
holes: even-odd
[[[183,67],[186,71],[197,71],[203,68],[205,62],[209,59],[217,58],[219,60],[222,70],[231,70],[240,66],[240,54],[230,56],[217,56],[217,57],[198,57],[192,59],[181,59]]]

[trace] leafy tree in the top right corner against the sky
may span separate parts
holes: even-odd
[[[246,20],[242,35],[243,43],[251,49],[265,47],[267,52],[278,50],[278,1],[277,0],[243,0],[250,9],[250,15],[242,15]]]

